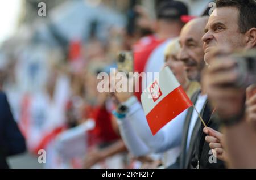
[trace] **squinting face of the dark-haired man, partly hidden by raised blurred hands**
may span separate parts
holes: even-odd
[[[238,27],[239,11],[234,7],[221,7],[213,11],[205,27],[204,59],[209,63],[213,49],[228,48],[230,50],[245,47],[245,35],[240,33]]]

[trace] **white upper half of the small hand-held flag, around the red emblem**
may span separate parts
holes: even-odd
[[[163,98],[166,97],[170,92],[174,91],[174,89],[180,86],[180,83],[177,81],[177,79],[175,78],[174,74],[172,73],[168,66],[164,67],[163,70],[159,73],[158,84],[160,87],[160,91],[162,92],[162,96],[160,96],[158,100],[156,100],[155,102],[152,99],[152,95],[150,93],[151,85],[147,87],[146,92],[142,92],[141,101],[145,115],[150,113],[151,110],[155,107],[155,105],[162,101]]]

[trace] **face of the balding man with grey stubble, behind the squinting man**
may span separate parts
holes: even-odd
[[[178,59],[184,62],[188,78],[191,80],[200,80],[200,72],[205,66],[201,38],[204,35],[207,20],[207,17],[193,19],[183,27],[180,33],[181,49]]]

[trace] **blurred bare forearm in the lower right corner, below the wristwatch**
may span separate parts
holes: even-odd
[[[246,89],[246,121],[226,127],[226,144],[231,168],[256,168],[256,91]]]

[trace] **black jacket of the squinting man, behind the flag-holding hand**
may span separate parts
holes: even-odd
[[[219,129],[219,124],[216,121],[213,121],[215,118],[215,114],[212,109],[210,109],[209,101],[205,105],[203,117],[205,124],[207,127],[211,127],[214,130]],[[199,130],[199,137],[196,140],[195,149],[193,150],[193,157],[191,160],[190,168],[200,168],[200,169],[223,169],[225,168],[224,162],[218,160],[218,158],[214,158],[209,143],[205,141],[205,136],[203,132],[204,125],[201,123],[201,127]]]

